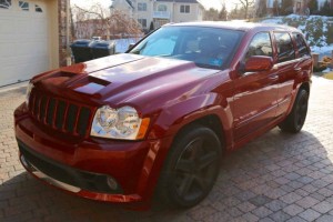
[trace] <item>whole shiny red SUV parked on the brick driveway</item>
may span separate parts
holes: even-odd
[[[224,151],[302,129],[312,65],[290,27],[164,26],[127,53],[34,77],[14,112],[20,160],[83,198],[193,206]]]

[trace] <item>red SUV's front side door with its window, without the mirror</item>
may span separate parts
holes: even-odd
[[[251,40],[245,58],[272,57],[270,32],[259,32]],[[234,81],[234,137],[242,140],[273,121],[278,109],[279,75],[270,71],[239,73]]]

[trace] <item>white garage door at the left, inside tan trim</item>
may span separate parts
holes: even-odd
[[[0,87],[49,69],[48,33],[43,1],[0,0]]]

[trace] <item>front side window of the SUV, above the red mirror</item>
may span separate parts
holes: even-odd
[[[251,40],[245,60],[253,56],[272,57],[272,42],[269,32],[260,32]]]

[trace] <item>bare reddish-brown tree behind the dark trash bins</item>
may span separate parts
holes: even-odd
[[[93,3],[89,9],[72,7],[74,39],[90,39],[93,36],[110,39],[139,37],[142,34],[138,21],[124,12]]]

